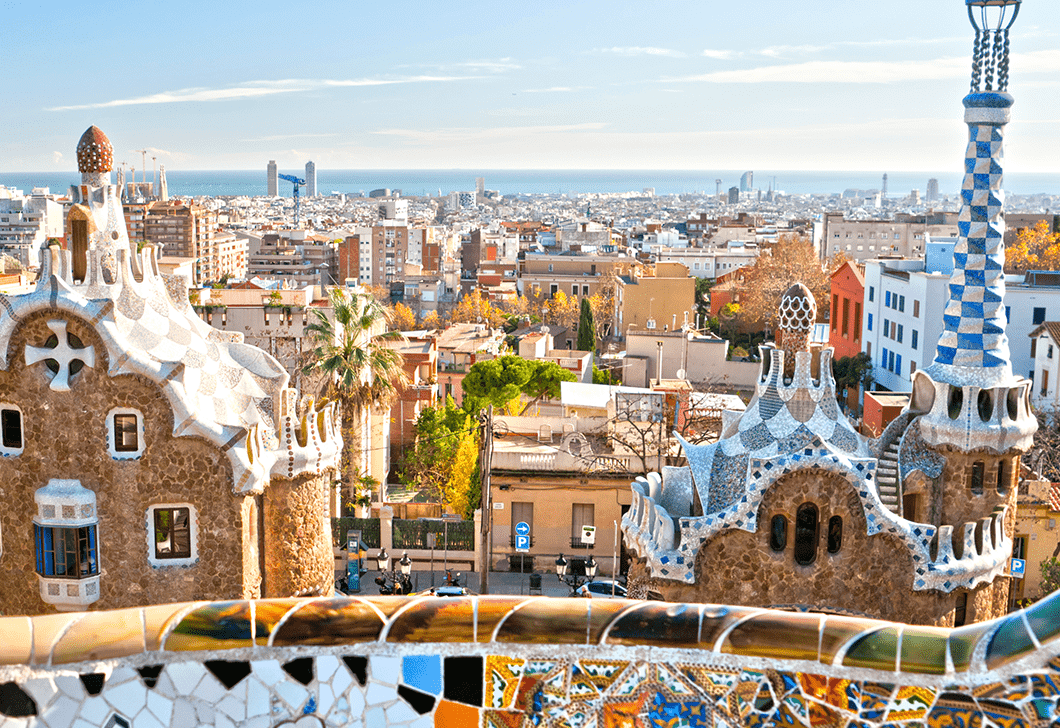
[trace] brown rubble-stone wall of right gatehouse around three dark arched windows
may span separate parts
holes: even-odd
[[[794,557],[795,516],[803,503],[819,509],[816,556],[810,565]],[[787,547],[771,548],[770,526],[775,515],[788,519]],[[832,516],[843,518],[842,545],[828,551]],[[915,591],[915,568],[906,546],[895,535],[867,535],[864,511],[853,487],[840,476],[803,469],[780,478],[766,491],[758,512],[758,530],[731,529],[718,533],[700,549],[694,584],[649,579],[643,562],[631,567],[631,581],[640,589],[659,592],[669,602],[705,602],[747,606],[805,608],[849,612],[914,624],[953,625],[958,599],[950,593]],[[884,586],[885,585],[885,586]],[[1008,579],[969,592],[967,621],[1005,614]]]

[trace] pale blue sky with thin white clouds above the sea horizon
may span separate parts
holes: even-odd
[[[964,0],[0,0],[0,172],[91,124],[167,170],[947,170],[972,37]],[[1060,2],[1011,49],[1006,170],[1057,172]]]

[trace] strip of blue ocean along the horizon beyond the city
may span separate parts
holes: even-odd
[[[956,172],[888,172],[887,193],[890,197],[904,197],[911,190],[926,192],[928,179],[936,178],[942,194],[956,194],[960,189],[960,167]],[[304,171],[281,170],[281,173],[303,176]],[[683,193],[709,193],[716,191],[716,179],[722,180],[722,191],[738,187],[743,171],[720,170],[710,172],[673,170],[317,170],[317,192],[368,194],[372,190],[388,188],[401,190],[406,196],[443,195],[475,189],[475,178],[484,177],[488,190],[501,194],[579,194],[640,192],[654,188],[656,195]],[[151,173],[148,173],[151,179]],[[265,168],[237,171],[166,170],[171,195],[182,196],[235,196],[264,195]],[[139,172],[137,179],[140,179]],[[871,172],[793,172],[755,171],[755,187],[774,189],[790,194],[842,193],[848,189],[878,190],[882,173]],[[14,173],[0,172],[0,185],[15,187],[30,192],[35,187],[50,188],[53,193],[65,193],[71,184],[80,183],[76,172]],[[1060,195],[1060,173],[1010,174],[1005,176],[1005,190],[1009,194]],[[290,183],[280,180],[280,192],[290,195]]]

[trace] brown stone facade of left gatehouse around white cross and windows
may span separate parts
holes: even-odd
[[[49,320],[92,347],[95,362],[71,378],[71,391],[50,389],[43,362],[25,365],[26,344],[42,347]],[[243,499],[231,492],[228,458],[196,438],[174,438],[173,412],[161,389],[136,375],[107,375],[107,351],[86,322],[57,312],[26,317],[11,338],[8,368],[0,371],[0,404],[22,412],[24,449],[0,458],[0,610],[53,611],[34,575],[34,492],[52,478],[72,478],[95,493],[99,512],[100,599],[93,609],[187,600],[253,596],[257,578],[244,573]],[[106,418],[117,407],[143,415],[143,454],[111,458]],[[153,568],[147,561],[147,509],[188,503],[197,513],[198,562]],[[241,568],[241,565],[243,567]]]

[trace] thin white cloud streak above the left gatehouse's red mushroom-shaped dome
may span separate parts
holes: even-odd
[[[423,84],[449,81],[466,81],[478,76],[402,76],[396,78],[282,78],[277,81],[251,81],[241,86],[229,88],[187,88],[177,91],[162,91],[146,96],[134,99],[117,99],[114,101],[94,104],[78,104],[74,106],[53,106],[48,111],[72,111],[77,109],[103,109],[116,106],[143,106],[148,104],[182,104],[189,102],[231,101],[235,99],[253,99],[277,93],[310,91],[319,88],[390,86],[394,84]]]

